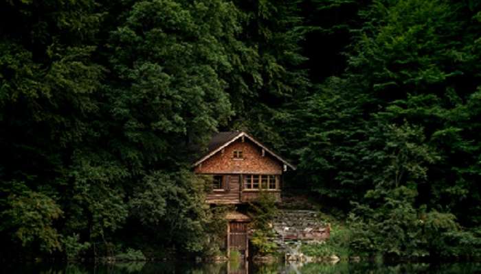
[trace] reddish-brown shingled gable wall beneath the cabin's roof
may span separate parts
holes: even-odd
[[[243,151],[243,159],[234,159],[234,151]],[[262,156],[262,149],[249,140],[236,140],[223,151],[219,151],[195,167],[195,173],[203,174],[282,174],[282,162],[268,153]]]

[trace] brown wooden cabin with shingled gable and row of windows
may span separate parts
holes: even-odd
[[[208,152],[195,162],[197,174],[212,175],[207,203],[241,204],[256,199],[260,191],[281,201],[282,173],[295,170],[276,153],[245,132],[219,132]]]

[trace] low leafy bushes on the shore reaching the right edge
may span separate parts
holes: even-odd
[[[353,250],[403,258],[480,256],[481,238],[462,231],[456,216],[436,210],[426,212],[425,206],[414,208],[410,199],[415,193],[407,188],[389,193],[381,206],[357,205],[357,214],[350,215]]]

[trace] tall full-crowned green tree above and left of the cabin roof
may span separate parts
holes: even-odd
[[[118,82],[108,90],[110,112],[133,146],[168,155],[182,147],[173,140],[205,141],[227,121],[230,102],[219,72],[232,66],[223,40],[238,28],[235,14],[222,1],[133,4],[112,33],[111,76]]]

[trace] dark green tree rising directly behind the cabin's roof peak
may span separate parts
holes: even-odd
[[[244,129],[277,151],[290,154],[287,141],[295,117],[296,100],[308,92],[307,71],[302,67],[303,27],[300,1],[238,1],[245,13],[241,38],[253,55],[240,75],[248,90],[228,90],[236,115],[230,126]],[[234,94],[232,92],[235,92]],[[242,97],[238,97],[242,95]]]

